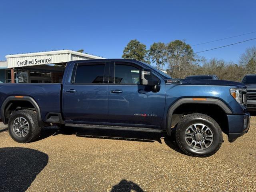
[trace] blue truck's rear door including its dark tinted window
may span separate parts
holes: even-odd
[[[73,71],[69,71],[72,77],[63,86],[63,114],[66,122],[107,122],[108,71],[109,62],[78,63]]]

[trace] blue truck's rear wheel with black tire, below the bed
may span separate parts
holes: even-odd
[[[37,115],[32,110],[18,110],[8,121],[8,131],[12,139],[19,143],[36,140],[41,132]]]

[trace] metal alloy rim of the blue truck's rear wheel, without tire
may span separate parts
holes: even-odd
[[[18,137],[25,137],[29,132],[28,121],[23,117],[17,117],[12,124],[12,130]]]

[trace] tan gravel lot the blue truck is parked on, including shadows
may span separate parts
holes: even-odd
[[[256,191],[256,117],[248,134],[208,158],[165,134],[56,127],[14,142],[0,124],[0,191]]]

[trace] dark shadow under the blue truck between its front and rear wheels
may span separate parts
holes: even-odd
[[[46,127],[42,129],[41,136],[38,140],[47,138],[49,136],[56,136],[58,134],[63,135],[76,135],[83,138],[98,138],[98,139],[112,139],[112,140],[126,140],[136,142],[158,142],[160,144],[166,144],[173,150],[183,152],[180,150],[176,143],[175,132],[172,136],[168,136],[166,132],[154,133],[154,132],[139,132],[139,131],[127,131],[127,130],[107,130],[107,129],[91,129],[91,128],[78,128],[78,127],[65,127],[59,129],[58,127]],[[164,143],[162,143],[164,140]]]

